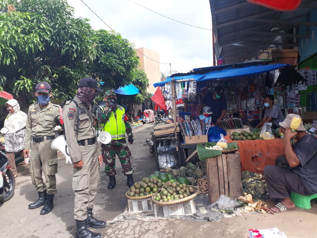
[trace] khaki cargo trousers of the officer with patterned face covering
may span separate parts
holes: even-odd
[[[86,141],[87,144],[87,141]],[[73,189],[75,190],[74,218],[84,221],[87,218],[87,208],[93,208],[97,194],[99,161],[97,145],[80,146],[82,169],[73,171]]]

